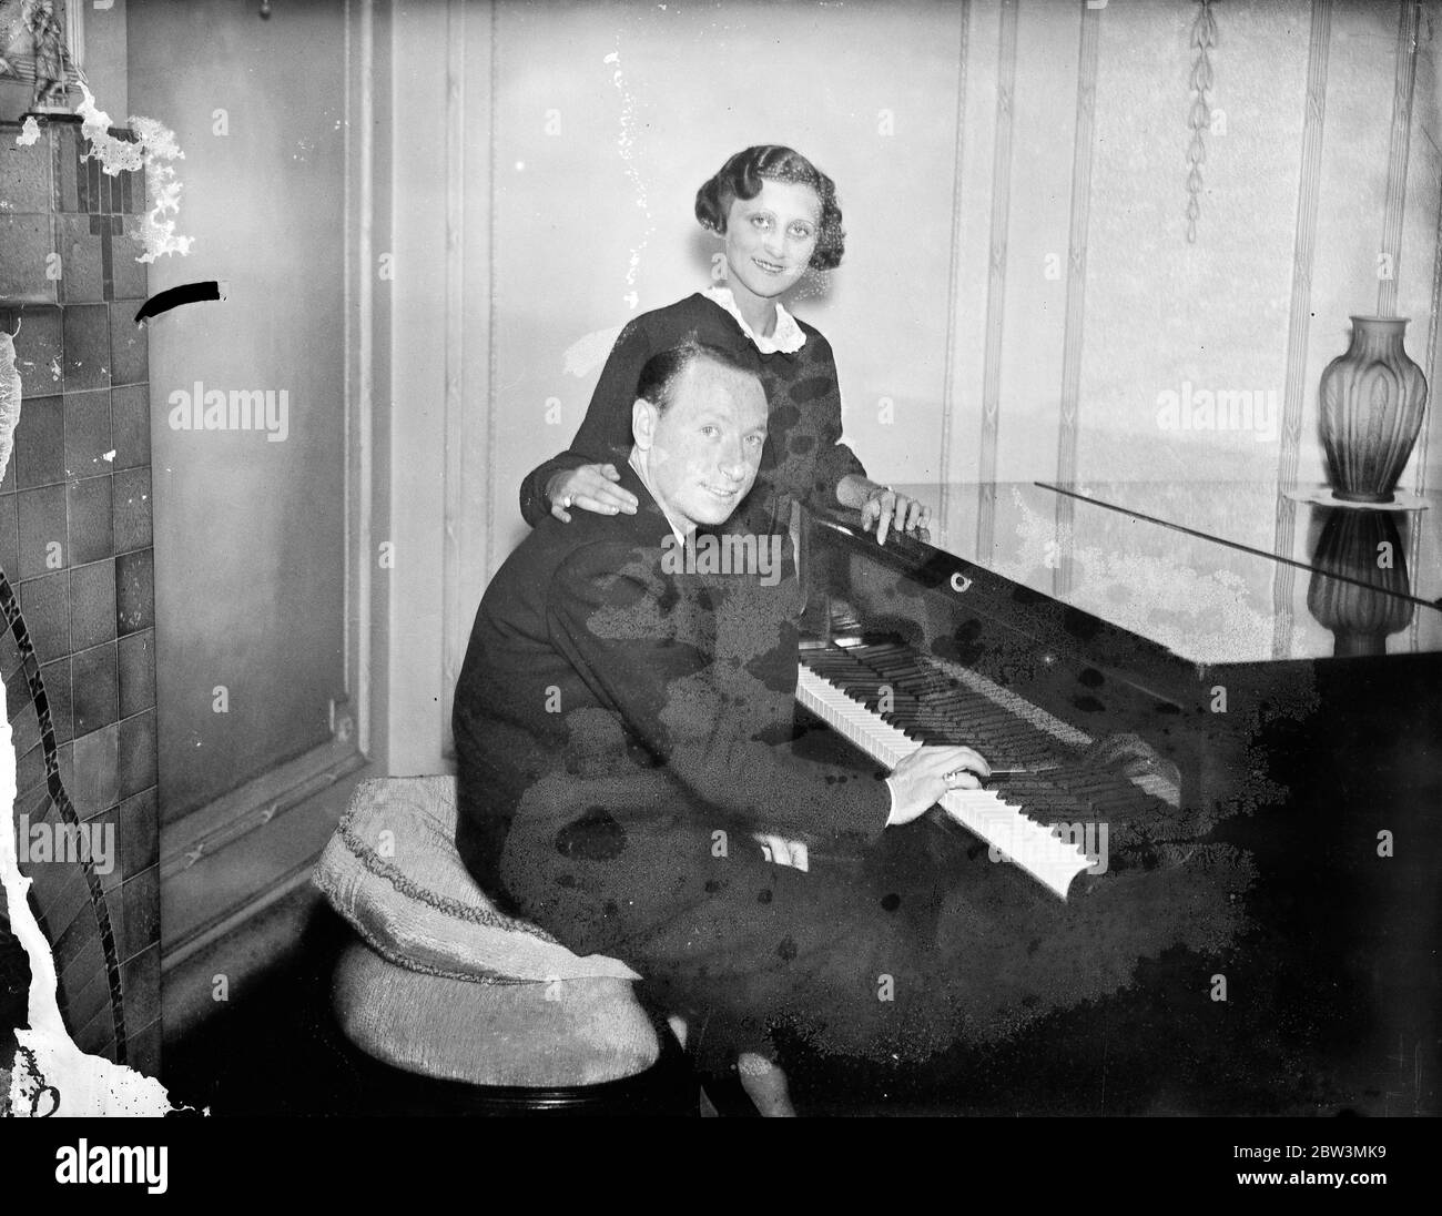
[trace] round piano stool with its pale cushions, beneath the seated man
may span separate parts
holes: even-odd
[[[639,977],[499,913],[454,828],[454,777],[368,780],[317,865],[356,930],[330,1001],[363,1082],[356,1114],[695,1115],[696,1082]]]

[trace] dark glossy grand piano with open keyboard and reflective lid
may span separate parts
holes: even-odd
[[[797,700],[1017,770],[927,828],[996,994],[917,1101],[1436,1114],[1442,498],[903,489],[927,534],[806,518]]]

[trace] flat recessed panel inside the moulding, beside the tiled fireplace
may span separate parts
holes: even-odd
[[[346,48],[335,4],[261,20],[219,0],[133,0],[128,23],[130,104],[176,133],[177,226],[193,238],[157,261],[153,288],[225,284],[150,330],[173,824],[327,743],[345,700]],[[271,394],[271,424],[176,427],[196,392]]]

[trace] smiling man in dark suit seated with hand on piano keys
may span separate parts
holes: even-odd
[[[885,777],[790,753],[800,604],[774,570],[792,574],[790,541],[748,532],[769,518],[747,502],[766,423],[728,353],[652,356],[622,473],[639,508],[542,519],[509,557],[454,734],[457,845],[482,887],[577,953],[629,962],[702,1021],[704,1059],[754,1053],[763,1076],[743,1083],[783,1109],[767,1031],[855,1000],[849,1033],[877,1033],[898,922],[858,919],[849,878],[769,864],[754,840],[864,850],[988,769],[966,747],[919,749]]]

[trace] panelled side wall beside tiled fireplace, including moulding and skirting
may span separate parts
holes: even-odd
[[[125,10],[131,111],[185,154],[176,224],[192,245],[156,263],[150,288],[222,293],[149,329],[167,1036],[216,1010],[213,975],[238,984],[264,953],[231,929],[310,890],[385,752],[369,672],[371,596],[392,565],[388,496],[372,493],[389,426],[373,358],[394,258],[376,190],[391,180],[376,149],[391,138],[389,12]]]

